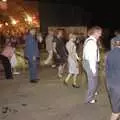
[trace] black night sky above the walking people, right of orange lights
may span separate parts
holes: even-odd
[[[105,46],[109,48],[108,40],[112,37],[113,30],[120,27],[120,6],[115,0],[39,0],[39,2],[39,6],[42,6],[40,19],[43,31],[47,26],[55,25],[55,23],[71,26],[79,26],[81,23],[88,23],[90,26],[99,25],[103,28],[110,28],[104,41]],[[57,3],[58,6],[47,8],[42,3]],[[66,7],[61,10],[59,4],[66,5]]]

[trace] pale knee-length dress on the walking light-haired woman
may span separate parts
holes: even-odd
[[[68,69],[70,74],[79,74],[79,65],[77,61],[77,52],[75,43],[68,41],[66,44],[66,49],[68,51]]]

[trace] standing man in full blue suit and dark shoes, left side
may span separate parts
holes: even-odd
[[[25,36],[25,58],[28,60],[31,83],[37,83],[39,80],[37,69],[40,55],[36,32],[35,28],[31,28]]]

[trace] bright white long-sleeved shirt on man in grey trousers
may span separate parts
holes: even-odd
[[[85,40],[83,46],[83,60],[89,62],[90,69],[93,74],[95,74],[97,62],[99,62],[99,48],[97,46],[97,40],[93,36]]]

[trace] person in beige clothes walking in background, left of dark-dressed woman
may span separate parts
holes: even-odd
[[[45,64],[49,64],[53,58],[53,40],[54,40],[54,32],[52,30],[48,31],[48,35],[46,36],[46,51],[48,52],[48,57],[44,61]]]

